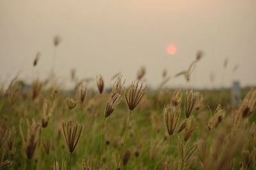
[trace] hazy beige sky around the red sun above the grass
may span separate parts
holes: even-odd
[[[45,78],[56,34],[63,39],[56,74],[66,86],[72,68],[79,78],[102,74],[109,84],[119,71],[127,82],[134,80],[141,66],[148,85],[159,85],[163,69],[172,76],[169,86],[184,85],[183,77],[173,75],[186,69],[198,50],[205,55],[191,85],[256,84],[255,0],[0,0],[0,81],[17,73],[30,81],[38,51],[33,76]],[[168,45],[177,46],[175,55],[166,53]]]

